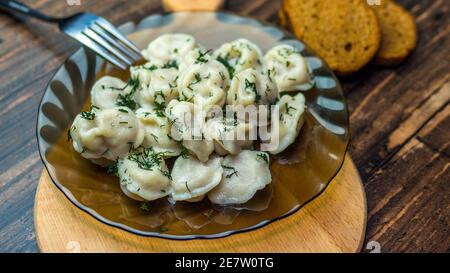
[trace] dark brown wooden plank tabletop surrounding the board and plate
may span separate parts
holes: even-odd
[[[159,1],[23,0],[53,15],[91,11],[114,24],[162,11]],[[382,252],[450,251],[448,0],[398,0],[417,21],[417,49],[395,68],[369,65],[342,84],[353,157],[367,193],[366,241]],[[225,9],[277,22],[279,1]],[[43,165],[35,121],[44,87],[78,45],[55,26],[0,14],[0,252],[38,251],[33,203]]]

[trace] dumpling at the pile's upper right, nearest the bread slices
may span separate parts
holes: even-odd
[[[312,87],[308,62],[294,47],[275,46],[266,53],[264,61],[280,92],[308,90]]]

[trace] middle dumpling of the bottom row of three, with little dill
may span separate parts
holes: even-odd
[[[222,158],[201,162],[194,157],[178,157],[172,169],[171,199],[200,201],[222,180]]]

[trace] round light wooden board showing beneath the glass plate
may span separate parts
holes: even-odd
[[[366,197],[349,156],[324,193],[293,215],[219,239],[168,240],[110,227],[76,208],[42,173],[34,223],[42,252],[357,252],[366,229]]]

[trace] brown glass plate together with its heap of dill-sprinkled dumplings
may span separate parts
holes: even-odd
[[[340,170],[342,89],[290,33],[222,12],[120,30],[139,63],[78,49],[39,106],[41,158],[79,209],[142,236],[218,238],[288,217]]]

